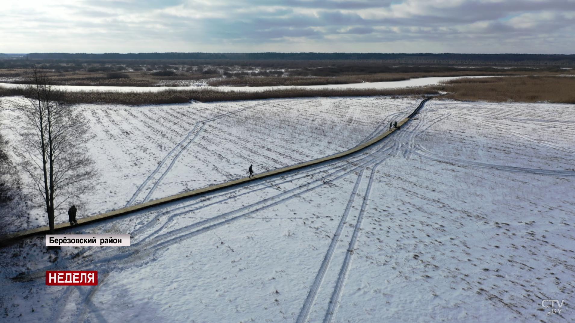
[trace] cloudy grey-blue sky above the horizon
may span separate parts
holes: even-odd
[[[575,53],[575,0],[4,0],[0,52]]]

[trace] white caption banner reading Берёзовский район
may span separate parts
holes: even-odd
[[[46,247],[129,247],[129,234],[46,234]]]

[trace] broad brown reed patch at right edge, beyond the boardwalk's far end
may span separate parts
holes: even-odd
[[[463,78],[434,89],[459,101],[575,103],[575,77],[570,76]]]

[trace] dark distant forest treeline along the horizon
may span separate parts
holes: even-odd
[[[0,57],[2,54],[0,54]],[[575,65],[575,55],[458,53],[29,53],[30,60],[384,60],[415,64]]]

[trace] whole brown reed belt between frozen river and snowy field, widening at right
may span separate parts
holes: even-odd
[[[145,105],[162,103],[242,101],[302,97],[373,97],[377,95],[434,95],[446,91],[445,98],[459,101],[488,102],[551,102],[575,103],[575,77],[572,76],[508,76],[492,78],[463,78],[439,86],[409,87],[404,89],[280,89],[257,92],[218,91],[214,89],[160,92],[67,92],[68,103],[113,103]],[[0,87],[0,97],[25,95],[22,89]]]

